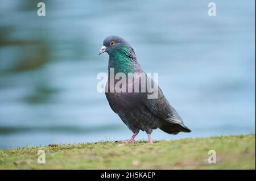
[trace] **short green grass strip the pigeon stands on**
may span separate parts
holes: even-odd
[[[45,164],[37,162],[39,149]],[[209,150],[216,151],[215,164],[207,162]],[[255,169],[255,134],[0,150],[0,169]]]

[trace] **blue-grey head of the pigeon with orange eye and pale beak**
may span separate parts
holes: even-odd
[[[101,47],[101,50],[98,54],[106,52],[110,55],[115,50],[120,49],[121,47],[127,47],[127,48],[131,49],[130,45],[122,37],[108,36],[103,41],[103,46]]]

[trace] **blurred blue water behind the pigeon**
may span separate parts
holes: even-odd
[[[255,131],[255,1],[0,1],[0,148],[125,140],[96,90],[106,36],[125,37],[191,133]],[[146,139],[141,132],[138,139]]]

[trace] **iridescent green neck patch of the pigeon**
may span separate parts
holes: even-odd
[[[109,56],[109,69],[114,68],[115,74],[122,73],[134,73],[136,71],[136,60],[133,60],[131,56],[131,49],[126,46],[118,47]],[[134,54],[135,58],[135,54]]]

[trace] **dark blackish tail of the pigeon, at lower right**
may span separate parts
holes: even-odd
[[[165,123],[162,127],[160,127],[160,129],[169,134],[177,134],[179,132],[191,132],[191,130],[185,127],[185,125],[173,124],[169,122]]]

